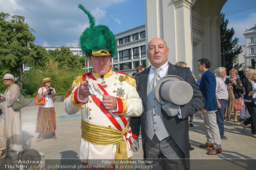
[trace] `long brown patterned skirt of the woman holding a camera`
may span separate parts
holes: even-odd
[[[53,134],[56,130],[56,112],[54,107],[39,107],[36,133]]]

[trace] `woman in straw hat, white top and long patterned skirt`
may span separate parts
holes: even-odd
[[[45,104],[40,105],[37,115],[37,128],[36,133],[39,133],[40,137],[37,142],[41,142],[44,138],[44,134],[53,134],[53,139],[56,137],[56,112],[53,107],[53,101],[56,100],[55,89],[50,87],[53,80],[46,77],[42,80],[43,87],[38,89],[38,101],[42,101],[45,97]]]

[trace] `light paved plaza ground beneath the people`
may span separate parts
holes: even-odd
[[[49,134],[39,143],[37,143],[39,134],[35,133],[38,106],[22,109],[22,128],[26,147],[42,153],[45,159],[77,159],[81,134],[80,112],[76,115],[67,115],[63,102],[55,102],[54,107],[57,139],[53,140],[52,135]],[[199,147],[199,144],[206,142],[206,135],[203,119],[197,112],[194,127],[189,127],[189,141],[192,147],[195,147],[195,150],[190,151],[191,169],[256,169],[256,139],[251,136],[250,130],[247,128],[247,132],[244,132],[240,123],[225,121],[225,136],[228,140],[222,140],[222,153],[206,155],[210,149]],[[141,147],[132,159],[143,159]]]

